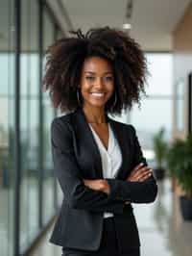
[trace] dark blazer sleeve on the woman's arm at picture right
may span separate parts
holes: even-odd
[[[131,128],[133,138],[133,166],[144,163],[148,166],[146,159],[143,157],[141,146],[136,136],[135,129]],[[131,182],[117,179],[107,179],[110,186],[109,195],[113,198],[119,198],[131,203],[150,203],[154,202],[157,194],[157,185],[154,176],[150,176],[143,182]]]

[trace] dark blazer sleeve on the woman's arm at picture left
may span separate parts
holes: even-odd
[[[123,213],[123,200],[112,199],[105,192],[94,191],[84,186],[81,168],[74,154],[69,123],[65,120],[60,121],[58,117],[51,124],[51,145],[54,171],[70,207],[96,213]]]

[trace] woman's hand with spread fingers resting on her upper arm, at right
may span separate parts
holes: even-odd
[[[153,169],[149,166],[143,166],[143,163],[135,166],[132,169],[131,174],[127,178],[127,181],[144,181],[152,175]]]

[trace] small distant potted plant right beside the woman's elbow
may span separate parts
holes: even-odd
[[[162,127],[153,138],[154,151],[156,155],[156,167],[154,168],[154,174],[157,180],[164,178],[165,168],[163,163],[165,162],[165,156],[167,152],[167,143],[164,141],[164,128]]]

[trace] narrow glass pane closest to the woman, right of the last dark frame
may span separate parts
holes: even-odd
[[[52,17],[44,10],[43,13],[43,53],[55,39],[55,26]],[[43,59],[44,69],[45,59]],[[53,163],[50,144],[50,125],[54,118],[54,110],[50,105],[48,92],[43,92],[42,100],[43,108],[43,200],[42,200],[42,221],[46,223],[54,214],[54,179],[53,179]]]

